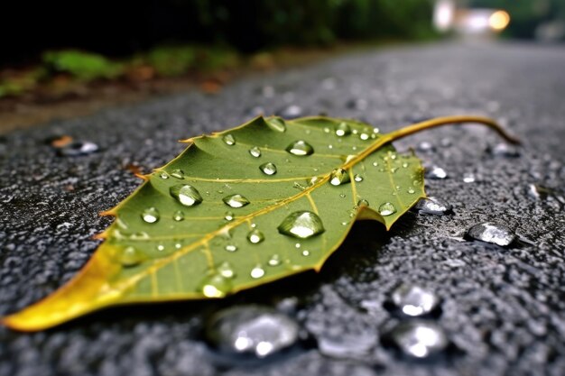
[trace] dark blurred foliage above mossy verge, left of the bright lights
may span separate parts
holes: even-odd
[[[338,39],[418,39],[432,31],[426,0],[21,0],[2,8],[3,64],[62,48],[125,56],[160,43],[199,42],[250,52]]]

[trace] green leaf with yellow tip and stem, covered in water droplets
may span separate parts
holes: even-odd
[[[144,176],[106,214],[116,221],[69,284],[4,323],[39,330],[101,307],[222,298],[308,270],[319,271],[357,219],[388,229],[425,197],[421,161],[390,142],[446,117],[380,134],[327,117],[257,117],[190,146]]]

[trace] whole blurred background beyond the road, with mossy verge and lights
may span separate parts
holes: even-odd
[[[242,73],[384,43],[565,40],[565,0],[19,0],[0,14],[10,124],[75,114],[53,107],[62,101],[216,93]]]

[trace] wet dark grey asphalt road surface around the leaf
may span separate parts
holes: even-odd
[[[131,170],[148,172],[184,148],[177,140],[259,112],[353,117],[383,132],[433,116],[489,115],[523,146],[505,149],[479,125],[397,142],[447,173],[427,179],[427,191],[450,214],[411,212],[389,233],[358,224],[320,273],[224,300],[111,308],[32,334],[0,327],[0,375],[565,374],[564,67],[562,46],[375,50],[245,79],[215,96],[192,92],[3,136],[0,314],[79,271],[97,247],[92,235],[111,221],[98,212],[139,185]],[[49,141],[60,135],[98,150],[58,153]],[[516,240],[469,239],[485,222]],[[414,301],[423,318],[402,312]],[[247,304],[290,316],[295,343],[262,359],[217,350],[207,323]]]

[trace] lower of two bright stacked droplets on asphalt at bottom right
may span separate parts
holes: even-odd
[[[396,326],[391,337],[403,353],[415,358],[426,358],[440,353],[449,344],[440,326],[423,320],[412,320]]]

